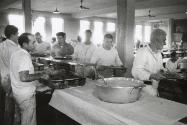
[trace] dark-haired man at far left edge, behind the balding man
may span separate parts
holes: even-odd
[[[4,99],[0,101],[0,105],[4,105],[3,124],[12,125],[14,121],[15,103],[12,97],[9,69],[11,55],[18,47],[18,28],[13,25],[7,25],[4,34],[6,40],[0,43],[0,87],[2,88],[1,90],[4,91],[4,96],[1,96]]]

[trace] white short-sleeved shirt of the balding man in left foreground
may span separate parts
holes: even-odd
[[[29,71],[29,74],[34,73],[34,66],[32,64],[30,54],[24,50],[19,49],[12,54],[10,59],[10,78],[12,91],[15,97],[30,97],[35,93],[35,81],[22,82],[20,80],[19,72]]]

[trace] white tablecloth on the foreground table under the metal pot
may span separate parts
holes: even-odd
[[[94,86],[55,90],[49,104],[83,125],[172,125],[187,116],[186,105],[147,95],[129,104],[103,102]]]

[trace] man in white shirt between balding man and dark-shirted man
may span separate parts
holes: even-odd
[[[51,53],[51,44],[48,42],[42,41],[42,36],[39,32],[35,34],[36,43],[34,53],[41,55],[50,55]]]

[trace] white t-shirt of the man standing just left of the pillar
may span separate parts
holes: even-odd
[[[120,66],[122,62],[115,48],[106,50],[102,46],[97,48],[91,58],[91,63],[105,66]]]

